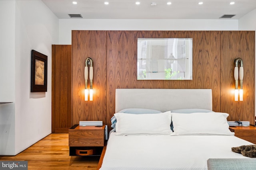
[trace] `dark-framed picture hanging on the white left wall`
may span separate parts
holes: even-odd
[[[47,92],[47,55],[31,51],[31,90]]]

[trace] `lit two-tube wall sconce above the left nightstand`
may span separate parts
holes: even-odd
[[[88,65],[90,65],[90,70],[88,70]],[[84,79],[85,79],[85,88],[84,88],[84,100],[88,101],[88,73],[89,73],[89,80],[90,80],[90,101],[92,101],[92,79],[93,79],[93,64],[92,59],[88,57],[85,60],[85,67],[84,67]]]

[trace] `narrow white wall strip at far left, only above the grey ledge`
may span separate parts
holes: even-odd
[[[0,21],[0,102],[14,102],[15,1],[0,0]]]

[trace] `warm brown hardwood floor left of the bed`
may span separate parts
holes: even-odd
[[[96,170],[99,157],[69,156],[68,133],[52,133],[16,156],[0,160],[27,160],[28,170]]]

